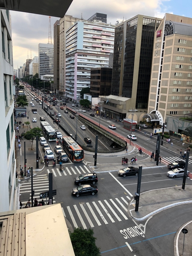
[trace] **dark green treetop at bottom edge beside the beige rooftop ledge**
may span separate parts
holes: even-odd
[[[70,239],[73,245],[73,250],[76,256],[99,256],[99,247],[96,246],[96,238],[93,236],[92,229],[83,230],[75,228],[73,233],[70,233]]]

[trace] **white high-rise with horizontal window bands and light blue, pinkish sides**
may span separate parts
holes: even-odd
[[[90,69],[108,67],[113,53],[113,25],[77,21],[66,32],[66,95],[73,101],[90,87]]]

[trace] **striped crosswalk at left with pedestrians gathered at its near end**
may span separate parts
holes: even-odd
[[[45,175],[38,175],[38,177],[33,177],[33,190],[35,191],[35,195],[33,196],[33,200],[37,198],[38,202],[41,201],[40,199],[40,193],[49,191],[49,179],[48,176]],[[29,179],[28,183],[21,183],[20,184],[20,200],[23,204],[23,206],[27,203],[27,201],[30,199],[31,201],[31,179]],[[22,198],[26,198],[26,196],[29,195],[27,201],[22,200]],[[43,198],[44,202],[46,203],[46,198]],[[47,202],[48,202],[47,198]],[[55,198],[53,197],[53,204],[55,204]]]

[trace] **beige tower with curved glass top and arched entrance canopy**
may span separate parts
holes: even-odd
[[[192,18],[166,14],[154,38],[148,114],[160,125],[192,113]]]

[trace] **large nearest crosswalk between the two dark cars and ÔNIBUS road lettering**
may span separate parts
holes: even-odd
[[[115,223],[117,221],[128,220],[128,202],[130,198],[110,198],[108,200],[93,201],[90,203],[79,203],[67,206],[64,216],[69,216],[73,226],[87,229],[102,224]]]

